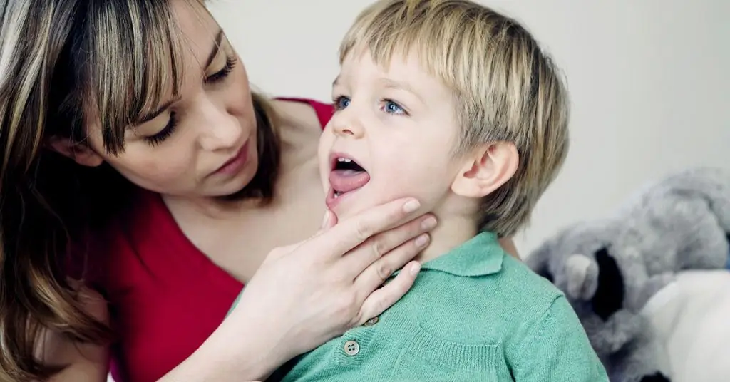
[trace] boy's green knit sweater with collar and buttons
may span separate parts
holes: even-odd
[[[283,381],[608,381],[563,294],[482,233],[423,264],[380,317],[304,354]]]

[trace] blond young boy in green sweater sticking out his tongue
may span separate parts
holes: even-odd
[[[498,243],[568,149],[566,89],[528,31],[467,0],[382,0],[340,64],[319,148],[328,207],[416,196],[439,226],[412,290],[284,381],[607,381],[564,296]]]

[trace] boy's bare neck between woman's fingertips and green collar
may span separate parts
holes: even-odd
[[[477,234],[474,218],[464,215],[438,215],[439,225],[431,231],[431,243],[416,260],[421,264],[445,255]]]

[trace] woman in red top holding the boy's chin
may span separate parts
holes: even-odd
[[[200,0],[3,10],[0,381],[263,379],[410,288],[434,217],[326,213],[331,107],[250,91]]]

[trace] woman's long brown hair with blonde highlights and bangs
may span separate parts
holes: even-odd
[[[84,145],[93,118],[107,152],[123,152],[129,121],[161,101],[165,83],[179,89],[181,34],[169,0],[15,0],[0,12],[0,381],[42,381],[58,371],[36,354],[45,330],[112,340],[70,284],[69,248],[83,248],[131,188],[110,167],[80,167],[45,143]],[[239,196],[267,200],[279,145],[270,105],[253,99],[261,159]]]

